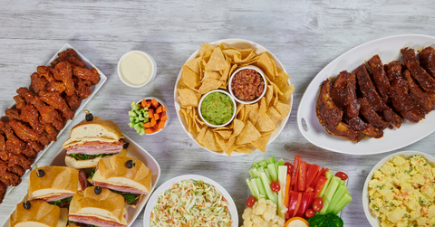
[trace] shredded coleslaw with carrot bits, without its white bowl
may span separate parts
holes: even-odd
[[[231,226],[227,200],[213,185],[183,180],[159,194],[150,226]]]

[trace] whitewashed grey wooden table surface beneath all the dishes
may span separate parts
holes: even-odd
[[[257,155],[217,156],[191,140],[176,115],[173,88],[181,65],[200,43],[242,38],[260,43],[283,63],[295,85],[294,106],[282,133],[266,148],[266,156],[342,169],[350,176],[353,197],[344,210],[345,226],[370,226],[362,210],[362,185],[374,166],[392,152],[352,156],[315,147],[299,132],[296,112],[305,88],[317,72],[343,52],[374,39],[404,33],[435,35],[435,5],[430,1],[45,1],[0,0],[0,112],[12,103],[15,90],[30,84],[38,65],[70,43],[108,80],[85,107],[94,116],[115,121],[121,130],[156,158],[158,185],[178,175],[204,175],[231,194],[239,213],[245,209],[248,169]],[[131,89],[116,66],[131,50],[149,52],[157,61],[156,80]],[[170,121],[155,136],[140,137],[128,127],[131,101],[154,96],[169,105]],[[46,166],[69,137],[75,118],[39,160]],[[435,135],[400,150],[435,155]],[[0,222],[25,194],[27,177],[0,204]],[[142,226],[142,213],[132,226]]]

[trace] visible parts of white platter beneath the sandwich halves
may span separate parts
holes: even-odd
[[[145,164],[145,166],[150,168],[151,173],[152,173],[152,180],[151,180],[152,187],[150,190],[150,194],[142,196],[142,198],[140,199],[140,202],[136,206],[136,209],[130,207],[129,210],[127,211],[129,213],[129,221],[128,221],[127,227],[130,227],[131,224],[134,222],[134,220],[136,220],[136,218],[138,217],[139,213],[142,211],[143,207],[145,206],[145,203],[147,203],[148,200],[150,199],[150,196],[151,196],[152,192],[154,191],[154,189],[157,185],[157,182],[159,182],[160,166],[157,163],[156,159],[154,159],[154,157],[152,157],[150,155],[150,153],[148,153],[144,148],[140,147],[139,144],[137,144],[136,142],[131,140],[130,137],[127,137],[126,135],[124,135],[124,142],[130,144],[129,147],[127,148],[127,156],[131,156],[131,157],[137,158],[140,161],[142,161],[143,164]],[[65,156],[66,156],[66,150],[62,148],[59,151],[59,153],[57,153],[57,155],[53,157],[53,160],[52,160],[52,162],[50,162],[49,166],[66,166],[65,165]],[[20,201],[24,201],[24,196],[23,196],[22,200],[20,200]],[[15,209],[14,209],[14,211],[15,211]],[[14,211],[12,213],[14,213]],[[9,214],[9,216],[10,216],[10,214]],[[9,226],[9,218],[6,219],[6,221],[3,223],[2,227],[8,227],[8,226]]]

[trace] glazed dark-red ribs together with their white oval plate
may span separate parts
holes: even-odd
[[[435,125],[434,44],[430,36],[391,36],[332,61],[300,103],[304,137],[336,152],[369,155],[428,136]]]

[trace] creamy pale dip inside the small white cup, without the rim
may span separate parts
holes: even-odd
[[[132,86],[140,86],[150,80],[152,62],[141,52],[129,52],[120,62],[121,79]]]

